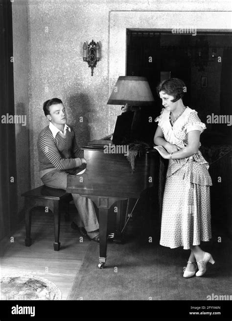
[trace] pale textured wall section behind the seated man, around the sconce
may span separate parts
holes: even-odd
[[[33,127],[31,149],[32,182],[38,186],[36,140],[47,125],[43,102],[62,99],[68,124],[74,126],[77,143],[82,147],[93,138],[108,134],[108,9],[100,1],[29,0],[30,21],[30,120]],[[94,69],[83,62],[84,41],[99,41],[102,59]],[[79,117],[83,117],[83,123]]]

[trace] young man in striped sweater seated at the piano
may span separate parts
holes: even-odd
[[[37,142],[40,179],[47,187],[66,189],[69,170],[86,164],[84,153],[76,144],[73,128],[66,124],[62,101],[49,99],[43,109],[49,125],[41,131]],[[79,194],[72,194],[72,198],[78,211],[72,227],[78,227],[82,235],[99,242],[99,224],[92,200]]]

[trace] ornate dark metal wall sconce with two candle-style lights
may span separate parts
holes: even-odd
[[[91,76],[93,76],[93,68],[96,67],[97,61],[100,60],[100,46],[99,43],[95,43],[93,40],[88,45],[88,42],[84,42],[83,45],[83,60],[88,62],[88,66],[91,68]]]

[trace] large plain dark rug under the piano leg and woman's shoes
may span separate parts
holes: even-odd
[[[207,243],[203,248],[213,249],[216,263],[205,277],[186,279],[189,251],[181,247],[166,248],[154,239],[109,243],[106,267],[98,269],[99,245],[91,242],[68,300],[208,300],[231,294],[231,242],[225,241],[223,250],[216,241]]]

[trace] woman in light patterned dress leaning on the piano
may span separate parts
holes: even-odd
[[[199,151],[200,134],[206,129],[194,109],[184,106],[185,83],[177,78],[162,81],[157,92],[163,109],[157,117],[154,147],[168,159],[163,194],[160,244],[190,249],[184,277],[202,276],[210,253],[200,248],[211,238],[209,164]],[[198,271],[196,272],[198,268]]]

